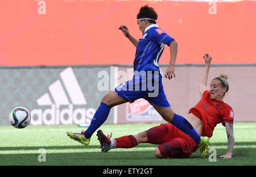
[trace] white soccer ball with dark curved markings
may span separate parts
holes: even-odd
[[[24,107],[16,107],[9,114],[10,124],[15,128],[25,128],[30,124],[30,112]]]

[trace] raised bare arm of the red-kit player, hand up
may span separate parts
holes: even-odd
[[[207,90],[207,79],[208,74],[210,70],[210,61],[212,61],[212,57],[208,54],[204,54],[204,62],[205,62],[205,69],[203,71],[203,74],[201,75],[200,81],[199,81],[199,94],[202,97],[205,90]]]

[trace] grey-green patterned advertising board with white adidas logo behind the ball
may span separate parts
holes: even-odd
[[[22,105],[30,110],[31,125],[89,124],[109,92],[97,91],[102,70],[110,75],[109,67],[2,68],[1,113]],[[6,117],[0,125],[9,125]],[[110,111],[106,123],[113,122]]]

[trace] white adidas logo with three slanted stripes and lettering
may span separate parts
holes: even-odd
[[[32,109],[32,125],[69,125],[89,123],[96,110],[94,108],[75,108],[87,104],[76,75],[69,67],[60,73],[60,79],[53,82],[46,92],[36,100],[39,106],[48,109]],[[61,83],[62,81],[62,83]],[[60,109],[60,107],[65,107]]]

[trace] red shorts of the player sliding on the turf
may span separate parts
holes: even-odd
[[[161,124],[146,131],[148,143],[158,144],[166,158],[188,158],[198,149],[196,142],[174,125]]]

